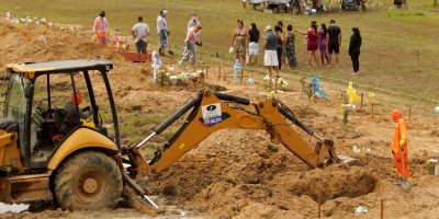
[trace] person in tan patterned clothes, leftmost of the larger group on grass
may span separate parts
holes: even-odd
[[[239,59],[239,64],[244,65],[246,61],[247,42],[250,38],[248,30],[244,27],[244,21],[236,21],[238,26],[234,28],[232,35],[232,46],[235,50],[235,59]]]

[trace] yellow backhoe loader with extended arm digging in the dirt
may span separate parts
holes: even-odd
[[[342,161],[331,140],[317,136],[280,101],[252,102],[205,90],[137,146],[123,147],[109,81],[111,69],[110,61],[87,59],[7,67],[10,80],[0,119],[0,201],[53,200],[70,210],[111,208],[127,185],[158,208],[132,178],[167,170],[209,135],[225,128],[264,129],[312,169]],[[95,84],[97,80],[101,83]],[[98,99],[95,88],[105,89],[106,96]],[[79,90],[89,99],[91,123],[69,118],[70,112],[58,107],[71,94],[76,99]],[[81,111],[79,105],[75,111]],[[112,123],[104,125],[100,111],[110,114]],[[182,116],[184,124],[146,162],[139,148]],[[293,124],[317,139],[315,148],[297,135]]]

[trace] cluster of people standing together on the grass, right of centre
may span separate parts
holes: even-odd
[[[279,21],[274,26],[274,32],[271,26],[266,27],[267,35],[263,37],[263,64],[269,69],[270,81],[272,81],[272,69],[277,72],[279,78],[279,70],[282,66],[285,66],[286,58],[289,59],[288,66],[294,68],[297,66],[297,59],[295,56],[296,36],[294,33],[305,35],[306,49],[308,53],[307,66],[317,66],[317,49],[319,50],[322,66],[337,67],[339,65],[339,54],[341,46],[341,28],[336,24],[335,20],[330,20],[329,27],[325,23],[320,24],[320,28],[317,30],[317,22],[312,21],[309,28],[306,32],[294,30],[289,24],[286,26],[286,33],[283,31],[283,22]],[[235,51],[235,58],[240,64],[251,65],[251,60],[255,57],[255,65],[258,62],[259,55],[259,39],[260,31],[257,28],[255,23],[251,23],[250,28],[247,30],[244,26],[243,20],[237,20],[237,27],[234,28],[232,35],[232,48]],[[349,44],[349,56],[352,60],[353,72],[358,73],[360,64],[360,47],[361,47],[361,35],[358,27],[352,27],[352,35]],[[334,60],[333,60],[334,55]],[[334,62],[333,62],[334,61]],[[271,82],[270,82],[271,84]],[[274,89],[275,91],[275,89]]]

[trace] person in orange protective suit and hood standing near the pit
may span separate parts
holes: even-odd
[[[395,132],[393,134],[392,153],[396,170],[402,176],[396,184],[401,185],[410,178],[410,172],[408,171],[407,166],[407,124],[405,123],[401,111],[393,111],[391,117],[392,120],[396,123]]]

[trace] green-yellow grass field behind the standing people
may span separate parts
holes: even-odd
[[[331,13],[323,12],[317,16],[291,14],[267,14],[254,11],[251,7],[243,9],[240,0],[106,0],[104,3],[88,0],[0,0],[0,13],[10,11],[16,16],[38,16],[48,21],[64,24],[81,24],[90,26],[99,11],[105,10],[112,30],[119,28],[123,35],[128,35],[132,25],[138,15],[143,15],[146,23],[155,32],[156,18],[160,9],[168,9],[168,25],[171,32],[171,47],[180,54],[189,14],[199,14],[203,25],[201,33],[203,60],[209,65],[217,65],[214,54],[225,57],[224,64],[232,66],[234,60],[227,50],[230,45],[232,31],[236,19],[244,19],[246,26],[257,23],[259,30],[266,25],[274,25],[282,20],[284,24],[292,24],[294,28],[306,30],[311,20],[318,23],[329,23],[335,19],[341,27],[341,67],[317,69],[303,68],[306,61],[306,48],[297,45],[300,66],[296,70],[284,73],[319,76],[323,80],[347,83],[353,81],[363,90],[392,93],[407,97],[416,107],[416,101],[428,106],[439,105],[439,33],[438,8],[434,8],[432,0],[408,1],[408,10],[393,9],[393,0],[373,1],[375,8],[367,11],[339,12],[339,4],[333,4]],[[380,3],[379,3],[380,2]],[[351,62],[347,55],[350,28],[358,26],[363,37],[360,56],[360,74],[351,76]],[[303,37],[297,36],[301,43]],[[148,39],[153,48],[156,37],[153,34]],[[419,51],[419,56],[417,56]],[[419,57],[419,61],[418,58]],[[260,58],[261,60],[261,58]],[[262,68],[255,71],[263,72]],[[426,111],[430,111],[429,108]]]

